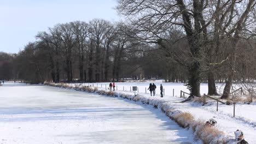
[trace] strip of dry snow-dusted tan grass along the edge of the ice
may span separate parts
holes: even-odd
[[[48,83],[45,82],[46,85],[55,86],[55,87],[63,87],[62,84]],[[73,88],[79,91],[88,91],[92,93],[98,93],[102,95],[109,95],[113,97],[121,97],[133,101],[139,101],[142,104],[153,105],[154,107],[161,109],[168,117],[176,121],[181,127],[188,128],[193,130],[195,138],[202,140],[203,143],[228,143],[231,142],[229,137],[226,137],[223,131],[219,131],[217,128],[209,127],[205,125],[201,119],[195,118],[191,113],[184,112],[178,110],[176,107],[171,105],[168,101],[164,99],[157,99],[153,97],[143,96],[142,94],[129,94],[129,93],[121,93],[121,92],[113,92],[106,90],[91,90],[93,87],[82,86],[82,87],[74,87],[67,86],[64,88]],[[181,99],[179,99],[181,100]]]

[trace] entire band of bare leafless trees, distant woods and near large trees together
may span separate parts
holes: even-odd
[[[201,82],[208,83],[210,95],[218,94],[216,82],[225,82],[222,98],[228,98],[232,82],[255,79],[255,5],[255,0],[119,0],[118,13],[127,22],[58,24],[10,55],[5,61],[11,67],[0,63],[0,68],[12,79],[35,83],[162,78],[187,83],[197,97]]]

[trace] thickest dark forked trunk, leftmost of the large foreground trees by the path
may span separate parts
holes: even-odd
[[[200,2],[198,0],[195,0],[193,2],[194,7],[194,23],[195,27],[193,28],[190,15],[185,7],[183,0],[177,0],[177,4],[179,6],[179,9],[182,13],[182,19],[184,22],[184,29],[188,37],[188,43],[189,48],[191,51],[191,58],[192,62],[188,65],[188,71],[189,71],[189,82],[188,87],[190,89],[190,95],[192,97],[201,97],[200,94],[200,59],[201,58],[201,46],[203,43],[203,40],[205,40],[204,37],[202,37],[201,33],[201,25],[203,24],[202,19],[202,9]],[[194,30],[193,30],[194,29]],[[205,29],[203,31],[204,34],[206,34]],[[205,35],[206,37],[206,35]]]

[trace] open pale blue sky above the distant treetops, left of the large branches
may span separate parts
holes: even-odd
[[[0,52],[18,53],[39,31],[57,23],[118,21],[115,0],[0,0]]]

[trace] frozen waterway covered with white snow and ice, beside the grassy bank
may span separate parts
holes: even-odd
[[[194,143],[152,106],[48,86],[0,86],[0,143]]]

